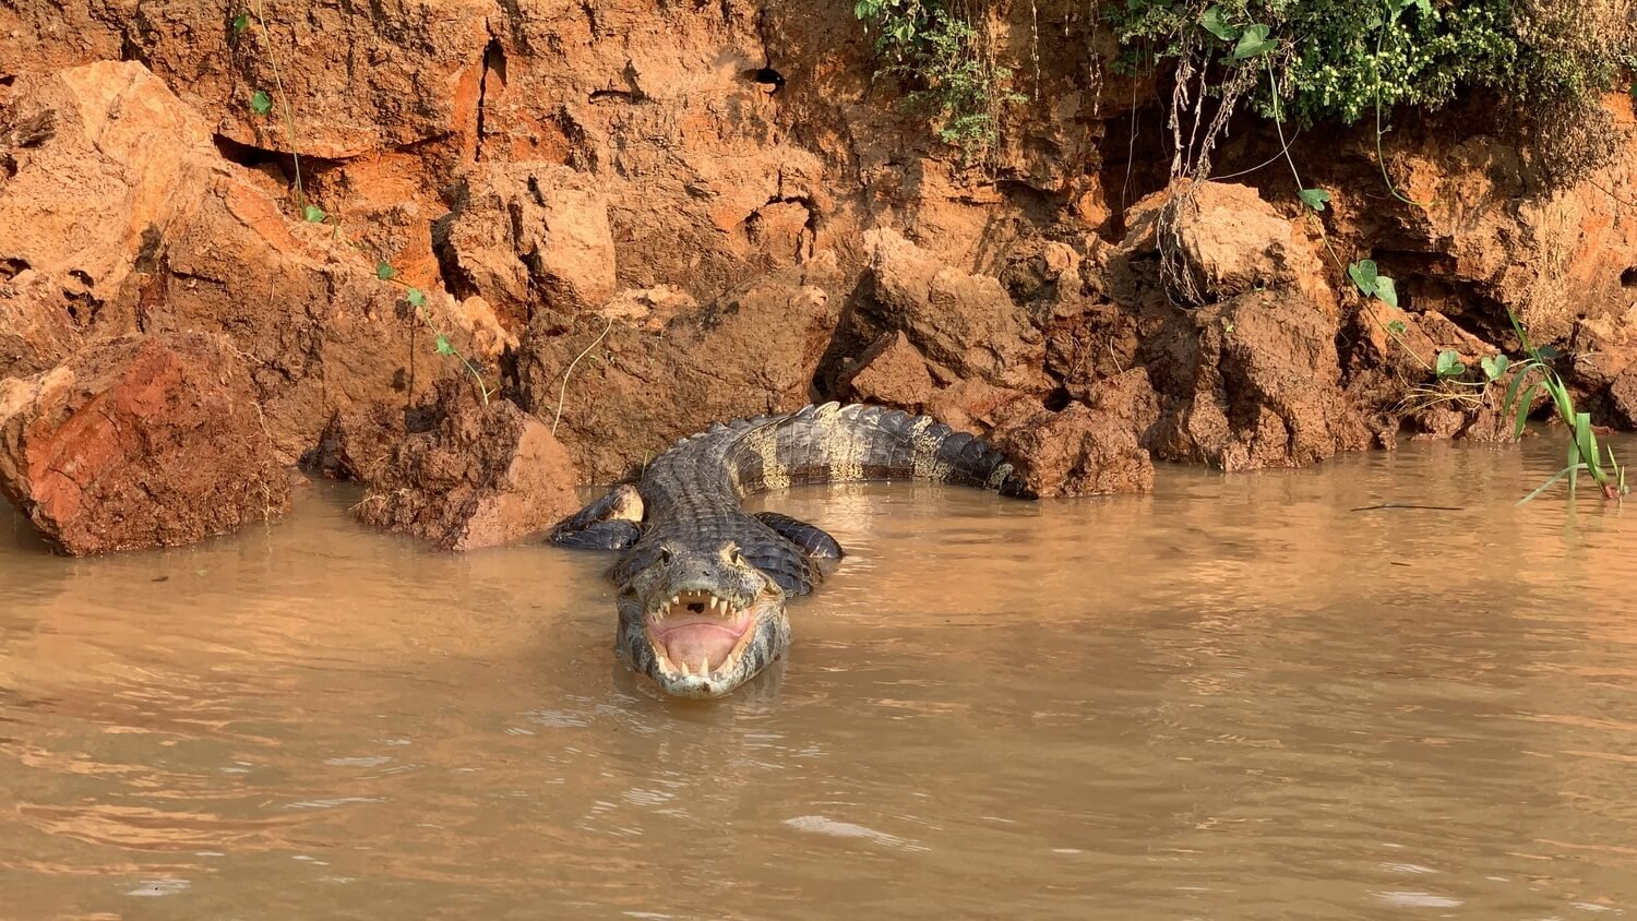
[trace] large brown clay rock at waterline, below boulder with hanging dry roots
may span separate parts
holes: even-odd
[[[1336,329],[1334,316],[1288,290],[1177,311],[1148,362],[1162,398],[1154,453],[1256,469],[1369,447],[1341,391]]]

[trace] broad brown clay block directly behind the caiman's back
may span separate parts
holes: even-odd
[[[542,312],[517,357],[525,404],[542,419],[560,407],[558,437],[591,483],[619,479],[712,422],[799,409],[815,396],[835,332],[840,298],[820,286],[833,281],[774,273],[660,332]]]

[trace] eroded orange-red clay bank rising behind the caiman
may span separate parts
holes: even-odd
[[[989,20],[1030,64],[972,164],[874,79],[843,0],[262,13],[0,7],[0,378],[206,332],[282,463],[337,414],[481,381],[579,481],[712,420],[871,399],[994,430],[1077,494],[1146,489],[1152,460],[1496,437],[1498,394],[1437,401],[1431,366],[1516,353],[1513,309],[1599,422],[1637,419],[1629,136],[1554,185],[1481,106],[1406,116],[1396,200],[1373,131],[1310,133],[1315,214],[1274,167],[1169,183],[1159,92],[1077,3]],[[1246,119],[1218,173],[1278,151]],[[1398,309],[1347,281],[1357,258]],[[357,425],[349,450],[406,438]]]

